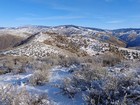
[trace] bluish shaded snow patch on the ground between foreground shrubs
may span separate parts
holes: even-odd
[[[19,88],[26,87],[26,89],[33,94],[47,93],[51,101],[55,105],[82,105],[84,101],[82,100],[82,94],[77,94],[75,98],[70,99],[68,96],[63,95],[61,90],[55,87],[55,84],[61,84],[62,80],[66,77],[70,77],[71,73],[69,70],[75,68],[76,66],[71,66],[70,68],[55,67],[51,71],[50,82],[43,86],[31,86],[28,84],[28,79],[32,76],[31,73],[25,74],[5,74],[0,76],[0,85],[13,84]]]

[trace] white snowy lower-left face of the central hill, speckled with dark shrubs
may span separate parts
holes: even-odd
[[[15,55],[15,56],[29,56],[29,57],[47,57],[49,55],[63,55],[66,56],[65,52],[61,49],[46,45],[40,42],[29,43],[25,46],[9,50],[3,53],[4,55]]]

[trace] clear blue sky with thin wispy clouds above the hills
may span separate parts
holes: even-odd
[[[140,28],[140,0],[0,0],[0,27]]]

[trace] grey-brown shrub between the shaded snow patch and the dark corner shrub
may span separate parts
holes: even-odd
[[[64,79],[63,84],[58,87],[62,93],[67,94],[70,98],[79,91],[86,91],[92,85],[92,81],[102,80],[106,76],[106,70],[99,65],[96,66],[83,65],[79,71],[74,72],[72,78]]]

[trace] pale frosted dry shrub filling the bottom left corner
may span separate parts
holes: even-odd
[[[30,94],[26,88],[21,90],[12,85],[1,86],[1,105],[51,105],[47,95]]]

